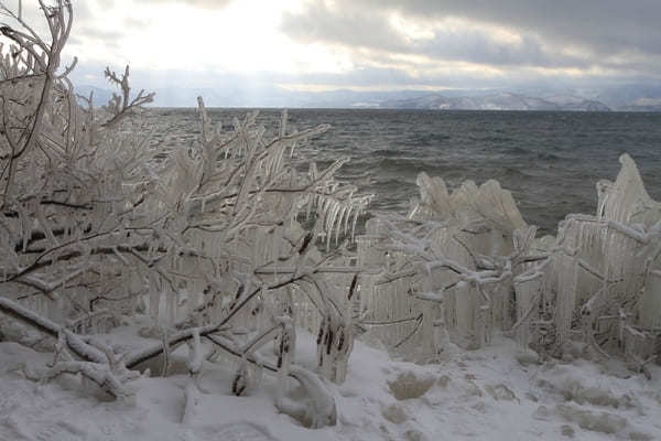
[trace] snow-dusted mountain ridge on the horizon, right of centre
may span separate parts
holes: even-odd
[[[474,97],[446,97],[438,94],[431,94],[419,98],[383,101],[381,103],[381,107],[438,110],[610,110],[610,108],[603,103],[574,96],[537,98],[510,93]]]

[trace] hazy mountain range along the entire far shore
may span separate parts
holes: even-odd
[[[587,99],[570,92],[566,95],[534,97],[524,94],[488,90],[376,90],[337,89],[327,92],[289,90],[270,85],[237,87],[149,89],[155,92],[153,107],[196,107],[203,96],[207,107],[289,107],[289,108],[384,108],[441,110],[568,110],[568,111],[661,111],[661,93],[627,101]],[[104,106],[112,90],[89,85],[76,86],[76,93],[89,96],[95,106]],[[132,90],[137,93],[138,90]],[[532,95],[532,93],[530,93]],[[642,92],[641,92],[642,94]],[[627,96],[635,96],[632,93]],[[605,95],[604,95],[605,96]],[[625,94],[622,93],[622,97]]]

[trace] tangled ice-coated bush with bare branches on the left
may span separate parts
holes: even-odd
[[[134,122],[153,94],[132,94],[126,67],[106,69],[118,93],[105,108],[77,96],[74,65],[59,67],[72,3],[39,3],[47,37],[0,2],[11,21],[0,28],[0,325],[25,325],[52,344],[64,335],[76,359],[48,376],[82,373],[121,395],[104,377],[117,374],[113,358],[90,335],[147,313],[153,326],[144,333],[161,342],[122,354],[128,369],[163,356],[166,375],[172,351],[189,343],[195,378],[207,340],[216,355],[238,354],[241,378],[269,365],[281,383],[299,379],[318,408],[313,426],[334,421],[324,413],[333,398],[313,378],[342,381],[347,370],[347,279],[359,269],[342,243],[370,196],[335,180],[347,158],[319,170],[296,157],[329,126],[292,132],[283,112],[269,138],[249,112],[224,130],[199,98],[199,141],[163,157]],[[294,364],[296,327],[324,330],[318,374]],[[187,389],[191,404],[195,391]]]

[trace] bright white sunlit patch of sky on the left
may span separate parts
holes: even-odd
[[[120,0],[106,9],[97,1],[80,25],[86,35],[69,52],[148,69],[304,74],[350,68],[344,51],[301,44],[279,32],[283,12],[296,7],[296,1],[249,0],[205,9]]]

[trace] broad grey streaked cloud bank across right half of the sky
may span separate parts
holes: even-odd
[[[389,21],[394,11],[424,24],[464,19],[470,25],[434,28],[432,39],[411,40]],[[418,54],[440,63],[658,74],[660,19],[659,0],[337,0],[333,7],[319,0],[302,13],[285,14],[282,30],[300,41]],[[496,28],[520,40],[499,39]]]

